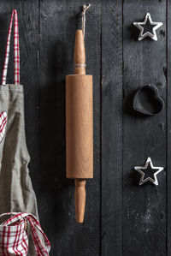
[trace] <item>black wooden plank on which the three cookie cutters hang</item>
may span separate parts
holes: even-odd
[[[158,41],[138,41],[133,21],[143,21],[150,12],[162,21]],[[159,186],[139,186],[133,170],[150,157],[166,167],[166,108],[157,116],[133,112],[133,95],[139,86],[155,84],[166,101],[166,1],[124,1],[123,5],[123,255],[166,255],[166,170],[158,175]]]

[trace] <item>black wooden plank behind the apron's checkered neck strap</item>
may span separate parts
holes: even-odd
[[[0,79],[3,73],[5,47],[12,10],[19,18],[21,84],[25,90],[25,116],[28,152],[31,155],[29,170],[35,191],[38,188],[38,1],[1,1],[0,4]],[[14,83],[13,34],[9,56],[8,83]]]

